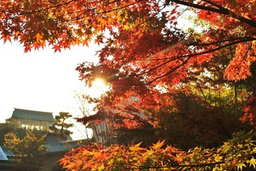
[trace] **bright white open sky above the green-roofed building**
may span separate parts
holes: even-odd
[[[18,42],[0,41],[0,122],[10,118],[14,108],[70,112],[76,108],[74,90],[84,87],[75,68],[95,62],[98,46],[74,46],[62,53],[44,50],[23,53]],[[72,113],[78,117],[80,113]]]

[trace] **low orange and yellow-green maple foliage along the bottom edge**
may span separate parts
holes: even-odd
[[[232,170],[254,167],[256,146],[252,133],[235,133],[218,149],[196,147],[189,152],[158,141],[149,149],[140,144],[84,146],[62,158],[67,170]]]

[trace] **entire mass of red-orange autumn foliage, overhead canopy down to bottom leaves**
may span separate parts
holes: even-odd
[[[96,115],[78,121],[106,123],[118,143],[155,143],[75,149],[62,159],[68,169],[255,167],[254,132],[231,137],[255,126],[255,0],[3,0],[0,7],[1,38],[25,52],[102,43],[98,64],[77,70],[86,85],[102,78],[110,90],[89,99]],[[178,27],[184,12],[195,14],[186,31]]]

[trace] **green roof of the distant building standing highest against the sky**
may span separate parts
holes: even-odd
[[[28,110],[28,109],[14,109],[12,117],[22,118],[22,119],[31,119],[31,120],[37,120],[37,121],[54,122],[53,113],[34,111],[34,110]]]

